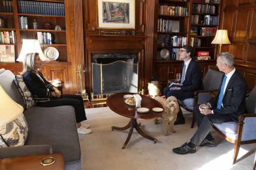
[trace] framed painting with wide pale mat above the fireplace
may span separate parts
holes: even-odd
[[[97,28],[135,29],[135,0],[97,0]]]

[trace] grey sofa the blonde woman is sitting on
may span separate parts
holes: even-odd
[[[25,108],[20,92],[14,84],[14,74],[0,69],[0,85],[6,93]],[[71,106],[24,110],[28,123],[28,137],[24,146],[0,148],[0,159],[62,153],[65,170],[81,170],[82,156],[78,139],[75,109]]]

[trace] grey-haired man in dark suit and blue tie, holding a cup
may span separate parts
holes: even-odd
[[[213,123],[237,121],[238,115],[245,113],[245,95],[247,83],[234,67],[235,57],[229,52],[218,54],[217,66],[225,75],[220,90],[207,104],[197,105],[194,109],[198,129],[190,142],[172,149],[174,153],[195,153],[196,146],[215,146],[210,133]],[[205,108],[202,108],[205,107]]]

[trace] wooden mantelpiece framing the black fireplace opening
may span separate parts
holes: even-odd
[[[92,91],[91,54],[92,53],[138,53],[139,88],[144,86],[144,44],[145,36],[130,35],[85,35],[85,88]]]

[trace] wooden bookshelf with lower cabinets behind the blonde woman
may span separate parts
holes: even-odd
[[[6,63],[1,62],[0,68],[9,69],[14,74],[19,74],[22,71],[22,64],[17,62],[19,53],[21,52],[22,40],[23,39],[36,39],[37,32],[49,32],[52,34],[52,44],[40,44],[42,51],[47,47],[54,47],[59,52],[59,57],[57,61],[59,62],[46,62],[43,63],[43,68],[40,70],[47,80],[53,80],[59,78],[64,81],[63,91],[64,93],[69,93],[70,81],[72,81],[69,76],[71,72],[71,59],[68,56],[69,47],[67,38],[67,18],[68,9],[67,0],[30,0],[23,1],[24,7],[21,10],[22,0],[9,0],[12,1],[13,12],[4,11],[3,0],[0,0],[0,18],[4,20],[4,28],[0,28],[0,31],[15,31],[16,33],[16,43],[14,44],[0,44],[0,45],[14,45],[15,48],[15,63]],[[23,3],[22,2],[22,3]],[[44,8],[39,6],[40,3],[43,3],[47,6]],[[55,6],[54,6],[55,4]],[[56,12],[58,4],[60,7],[64,8],[63,11],[60,10]],[[55,7],[55,8],[54,8]],[[41,9],[40,9],[41,8]],[[48,8],[52,9],[51,11],[46,11]],[[26,10],[25,10],[26,9]],[[40,13],[40,11],[41,13]],[[24,16],[27,18],[27,28],[21,29],[19,18]],[[38,22],[38,29],[33,29],[33,21]],[[50,23],[51,27],[46,29],[43,27],[43,24]],[[55,30],[56,25],[59,25],[61,30]]]

